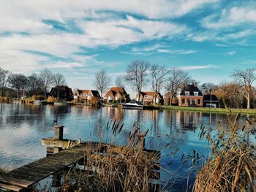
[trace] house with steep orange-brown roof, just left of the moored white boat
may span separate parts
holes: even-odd
[[[129,94],[127,94],[127,91],[125,91],[124,88],[121,88],[121,87],[112,87],[105,94],[106,103],[113,103],[113,102],[127,103],[129,101],[130,101]]]

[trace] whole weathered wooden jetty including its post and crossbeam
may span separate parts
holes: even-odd
[[[144,142],[143,142],[144,144]],[[26,164],[18,169],[0,174],[1,189],[9,191],[29,191],[35,183],[54,175],[57,172],[84,161],[85,154],[99,150],[99,146],[104,149],[105,144],[98,142],[80,142],[63,139],[63,126],[55,126],[55,137],[42,139],[42,145],[47,145],[47,152],[52,153],[45,158],[41,158],[31,164]],[[116,150],[121,147],[116,146]],[[145,150],[145,153],[151,151]]]

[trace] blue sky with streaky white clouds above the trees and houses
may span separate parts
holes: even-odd
[[[256,67],[256,1],[0,0],[0,66],[29,75],[60,72],[93,88],[113,85],[135,60],[181,67],[198,82],[229,81]],[[149,89],[149,88],[148,88]]]

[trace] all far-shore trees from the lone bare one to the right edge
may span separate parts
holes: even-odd
[[[219,85],[207,82],[200,85],[200,90],[203,93],[216,94],[219,100],[223,101],[223,105],[226,104],[227,107],[241,108],[246,103],[246,108],[249,109],[255,103],[255,88],[252,86],[256,80],[255,72],[255,68],[235,70],[231,74],[232,82],[222,82]],[[195,80],[178,67],[167,68],[166,66],[150,64],[147,61],[133,61],[127,66],[124,76],[116,77],[116,86],[124,87],[125,82],[135,89],[139,100],[143,87],[151,85],[155,99],[158,92],[165,91],[170,96],[170,104],[172,104],[178,89],[183,88],[187,83],[195,82]],[[99,90],[101,96],[108,91],[110,84],[111,77],[104,69],[96,72],[94,87]]]

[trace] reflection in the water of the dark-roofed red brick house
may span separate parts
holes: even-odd
[[[199,125],[202,116],[202,112],[177,111],[176,120],[180,123],[181,128],[194,129]]]

